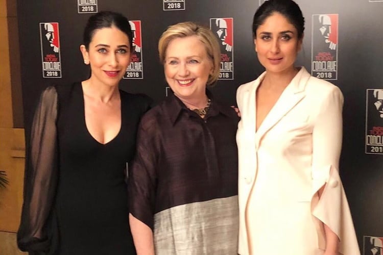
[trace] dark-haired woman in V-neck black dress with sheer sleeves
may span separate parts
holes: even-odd
[[[34,116],[18,246],[30,254],[135,254],[126,166],[150,99],[118,90],[132,49],[128,19],[91,16],[80,49],[90,78],[46,88]]]

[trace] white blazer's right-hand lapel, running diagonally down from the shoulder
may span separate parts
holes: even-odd
[[[278,121],[286,115],[294,106],[296,106],[300,100],[305,96],[304,88],[307,80],[310,78],[310,74],[304,67],[295,75],[290,84],[284,89],[277,102],[270,110],[264,121],[260,124],[256,134],[256,147],[259,147],[262,137],[276,124]],[[254,105],[255,111],[255,92],[254,92]],[[254,113],[255,114],[255,113]],[[254,115],[253,115],[254,116]],[[255,121],[254,121],[255,122]],[[255,131],[255,123],[254,123]]]

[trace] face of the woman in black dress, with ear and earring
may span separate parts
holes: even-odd
[[[88,49],[80,47],[84,61],[90,64],[90,80],[107,86],[117,86],[130,62],[128,36],[111,27],[96,30]]]

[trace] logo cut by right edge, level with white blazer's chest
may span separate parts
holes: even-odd
[[[383,89],[367,89],[366,94],[365,152],[383,154]]]

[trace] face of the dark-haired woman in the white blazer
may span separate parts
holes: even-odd
[[[294,70],[294,62],[302,46],[297,29],[283,15],[273,13],[259,25],[254,39],[259,62],[268,72]]]

